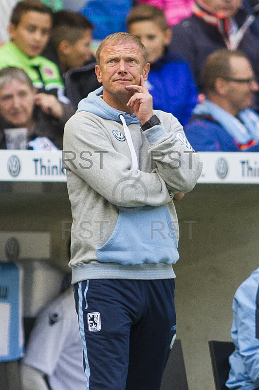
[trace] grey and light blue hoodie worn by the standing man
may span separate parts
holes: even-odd
[[[202,161],[171,114],[142,132],[135,115],[109,106],[103,88],[65,125],[63,160],[72,205],[72,283],[167,279],[178,258],[173,195],[191,191]]]

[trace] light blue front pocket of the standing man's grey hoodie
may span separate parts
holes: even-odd
[[[109,240],[97,249],[100,262],[123,265],[174,264],[178,240],[166,206],[119,210]]]

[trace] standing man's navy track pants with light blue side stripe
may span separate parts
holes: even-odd
[[[176,336],[174,279],[74,285],[87,390],[159,390]]]

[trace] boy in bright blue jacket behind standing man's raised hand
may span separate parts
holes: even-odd
[[[127,16],[127,27],[148,52],[147,86],[154,109],[173,114],[185,125],[197,104],[197,88],[186,60],[167,50],[171,30],[164,11],[153,5],[138,4]]]

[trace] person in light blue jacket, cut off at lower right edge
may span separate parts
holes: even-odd
[[[259,268],[237,289],[231,337],[235,351],[229,357],[229,389],[259,388]]]

